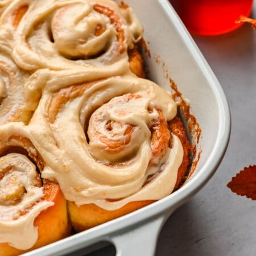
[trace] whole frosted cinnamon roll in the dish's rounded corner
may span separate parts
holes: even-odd
[[[135,76],[55,91],[52,86],[43,92],[30,133],[47,163],[42,175],[60,184],[76,230],[174,190],[177,176],[187,169],[185,160],[178,174],[188,141],[172,133],[177,107],[170,94]],[[180,133],[185,136],[185,130]]]

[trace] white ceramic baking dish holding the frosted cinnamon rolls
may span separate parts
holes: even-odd
[[[164,221],[210,179],[224,156],[230,134],[228,102],[218,80],[167,0],[127,0],[144,27],[151,57],[150,78],[170,89],[166,72],[188,98],[202,130],[197,168],[182,188],[143,209],[31,251],[26,255],[65,255],[101,241],[118,256],[154,255]],[[164,67],[163,67],[164,63]]]

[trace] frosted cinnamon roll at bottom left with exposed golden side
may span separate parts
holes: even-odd
[[[0,254],[18,255],[69,234],[59,185],[41,179],[44,161],[22,123],[0,126]]]

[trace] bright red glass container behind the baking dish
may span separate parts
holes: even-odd
[[[220,35],[242,25],[236,20],[249,16],[253,0],[170,0],[192,34]]]

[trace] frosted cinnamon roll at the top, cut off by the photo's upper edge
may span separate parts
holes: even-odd
[[[0,23],[15,34],[20,68],[89,69],[98,78],[129,69],[127,51],[143,32],[133,11],[112,0],[17,0]]]

